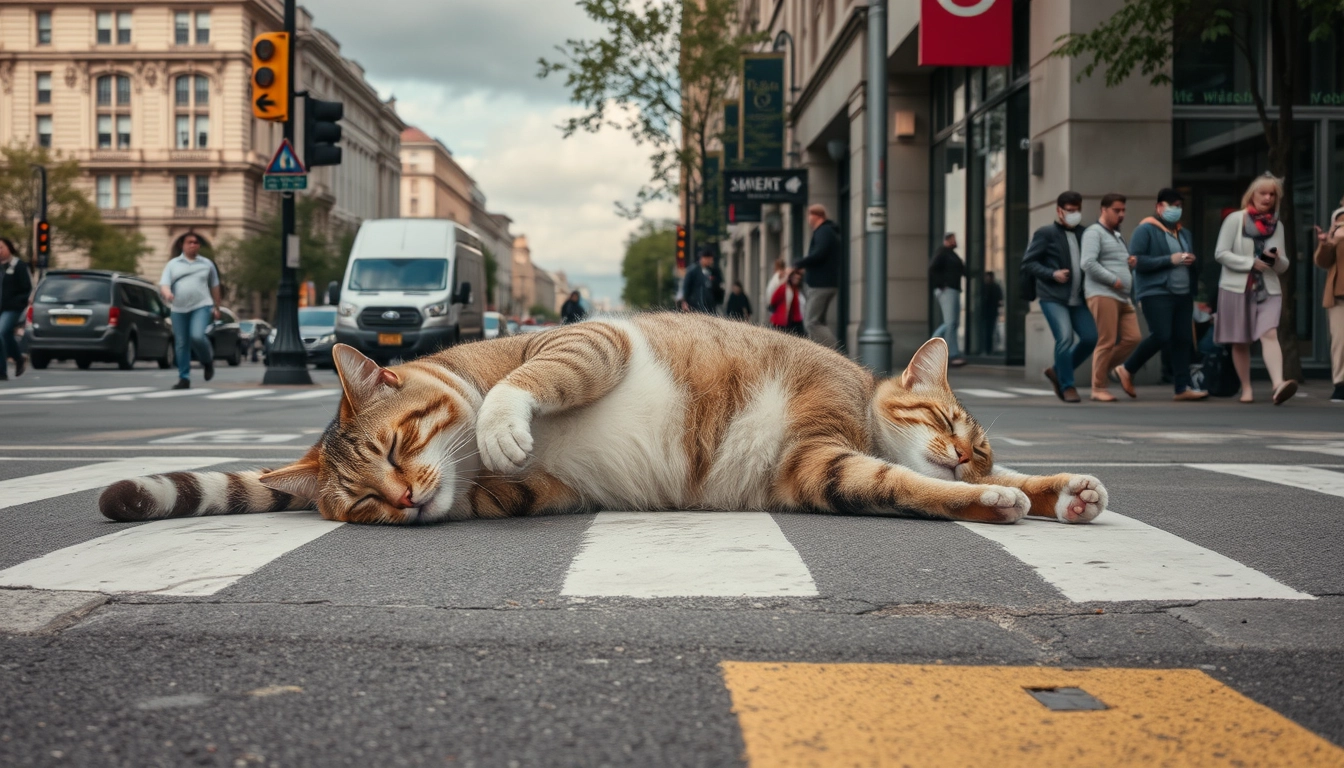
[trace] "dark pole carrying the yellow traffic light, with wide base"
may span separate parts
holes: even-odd
[[[285,0],[285,31],[289,32],[289,90],[285,94],[289,120],[285,121],[285,139],[294,144],[294,48],[296,0]],[[280,289],[276,292],[276,346],[270,350],[270,364],[262,377],[266,385],[310,385],[308,375],[308,354],[298,339],[298,269],[290,266],[292,245],[297,246],[294,234],[294,192],[281,192],[280,203]],[[293,243],[290,242],[293,241]],[[297,262],[297,260],[296,260]]]

